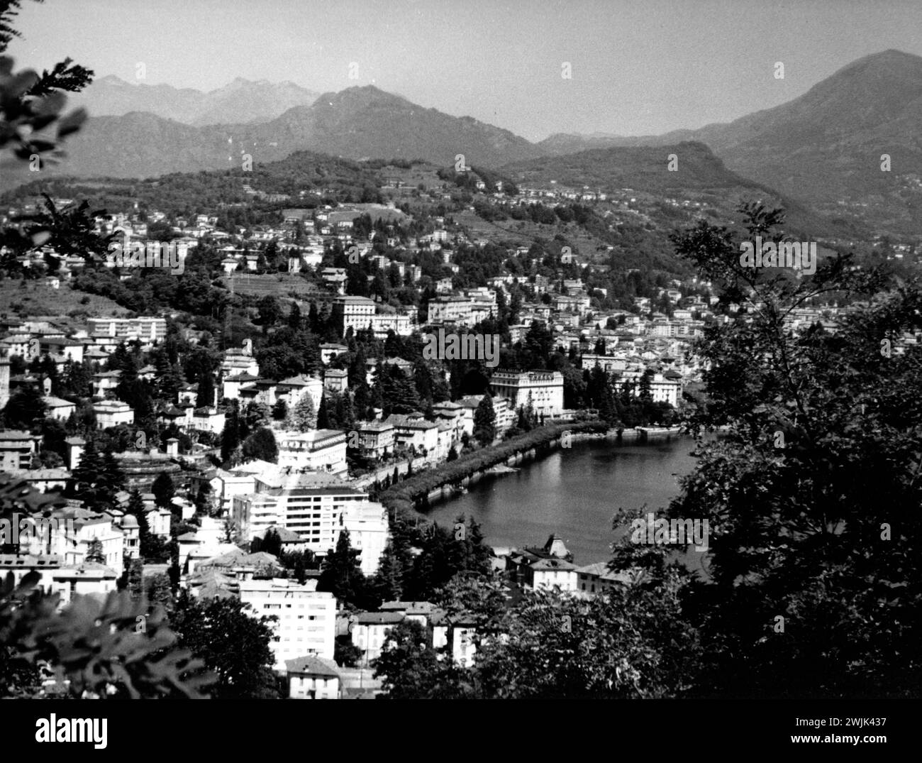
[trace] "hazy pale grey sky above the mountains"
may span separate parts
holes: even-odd
[[[136,81],[143,62],[148,84],[196,89],[374,84],[532,140],[726,122],[863,55],[922,54],[918,0],[46,0],[17,28],[17,68],[69,55],[97,77]]]

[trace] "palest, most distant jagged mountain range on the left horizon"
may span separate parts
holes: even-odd
[[[310,105],[318,95],[293,82],[265,79],[252,82],[237,77],[223,88],[202,92],[170,85],[133,84],[109,76],[93,81],[72,101],[86,107],[91,116],[150,112],[163,119],[200,126],[269,122],[294,106]]]

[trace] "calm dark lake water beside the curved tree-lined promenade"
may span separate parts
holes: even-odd
[[[429,519],[451,525],[474,517],[491,546],[543,545],[557,533],[578,566],[608,561],[610,545],[630,532],[612,530],[619,507],[659,512],[679,495],[678,478],[691,473],[694,440],[673,436],[647,444],[583,440],[528,461],[514,474],[487,476],[467,495],[434,504]],[[691,567],[700,554],[689,554]]]

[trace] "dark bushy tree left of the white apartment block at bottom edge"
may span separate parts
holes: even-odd
[[[218,676],[216,699],[277,699],[269,644],[275,618],[255,617],[239,599],[197,601],[180,593],[170,613],[178,644]]]

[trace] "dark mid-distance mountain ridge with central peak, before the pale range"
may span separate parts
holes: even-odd
[[[372,86],[325,93],[265,124],[194,126],[140,112],[91,117],[65,149],[66,161],[48,173],[147,177],[240,168],[246,154],[256,163],[298,150],[443,166],[454,164],[457,154],[464,154],[467,165],[486,166],[536,154],[531,143],[508,130],[425,109]],[[27,172],[14,182],[32,179]]]

